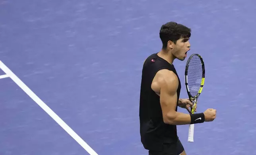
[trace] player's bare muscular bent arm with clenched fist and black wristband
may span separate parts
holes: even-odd
[[[215,119],[215,112],[213,109],[208,109],[204,113],[186,114],[176,112],[177,106],[177,89],[178,78],[175,73],[170,70],[161,70],[157,73],[156,83],[159,87],[160,104],[163,113],[163,121],[171,125],[186,125],[195,123],[194,120],[201,118],[203,121],[213,121]],[[191,119],[193,119],[191,121]]]

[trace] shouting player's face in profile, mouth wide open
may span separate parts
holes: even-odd
[[[180,38],[176,44],[173,43],[172,54],[179,60],[185,60],[187,52],[190,50],[189,38]]]

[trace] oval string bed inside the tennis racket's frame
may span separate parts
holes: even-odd
[[[188,65],[188,87],[193,97],[198,94],[201,87],[202,75],[203,69],[201,60],[198,56],[194,56],[190,59]]]

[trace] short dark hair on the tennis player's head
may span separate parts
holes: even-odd
[[[180,38],[190,38],[191,29],[175,22],[168,22],[161,26],[159,35],[163,43],[163,49],[166,49],[168,41],[176,44]]]

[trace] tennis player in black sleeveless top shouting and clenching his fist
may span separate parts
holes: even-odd
[[[180,113],[177,106],[190,112],[193,104],[180,97],[180,79],[173,65],[184,60],[190,50],[190,28],[169,22],[161,26],[161,51],[144,62],[140,90],[140,135],[149,155],[186,155],[178,139],[176,125],[213,121],[216,110],[204,113]],[[196,107],[195,107],[196,108]]]

